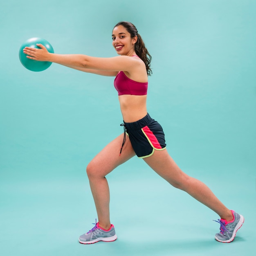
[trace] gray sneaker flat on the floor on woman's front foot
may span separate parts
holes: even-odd
[[[79,236],[79,243],[81,244],[93,244],[99,241],[112,242],[117,240],[114,225],[111,224],[110,229],[105,230],[99,227],[99,222],[95,221],[95,226],[86,234]]]

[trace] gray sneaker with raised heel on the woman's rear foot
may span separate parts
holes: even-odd
[[[220,223],[220,233],[215,235],[215,239],[222,243],[230,243],[234,240],[236,236],[236,231],[242,227],[244,223],[244,217],[233,210],[231,210],[233,214],[233,220],[227,222],[227,220],[215,220],[216,222]]]

